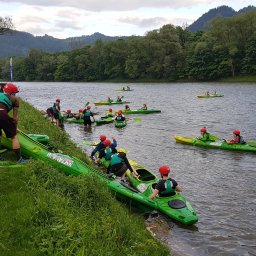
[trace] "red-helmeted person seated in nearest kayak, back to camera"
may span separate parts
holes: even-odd
[[[154,199],[156,195],[160,197],[173,196],[176,194],[176,191],[182,191],[181,186],[178,185],[174,179],[168,178],[170,171],[170,167],[167,165],[163,165],[159,168],[162,179],[156,184],[153,193],[149,196],[150,199]]]

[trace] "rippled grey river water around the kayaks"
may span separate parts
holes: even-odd
[[[119,147],[128,150],[129,159],[156,173],[161,165],[170,165],[172,177],[199,216],[194,227],[173,223],[165,234],[174,255],[256,255],[256,154],[203,149],[174,140],[176,134],[198,136],[203,126],[221,138],[229,139],[234,129],[240,129],[245,140],[256,140],[256,84],[131,83],[131,92],[115,91],[123,87],[116,83],[18,85],[21,98],[40,110],[60,98],[62,110],[77,112],[89,101],[93,111],[104,115],[108,106],[95,107],[93,102],[118,95],[131,101],[131,109],[143,103],[149,109],[161,109],[160,114],[127,116],[128,124],[122,129],[108,124],[85,132],[81,125],[65,124],[65,130],[77,144],[97,141],[101,134],[115,137]],[[224,97],[196,97],[207,90]]]

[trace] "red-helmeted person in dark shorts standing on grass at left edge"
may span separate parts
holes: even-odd
[[[19,99],[16,93],[19,92],[18,87],[13,83],[7,83],[3,88],[3,93],[0,93],[0,142],[2,130],[7,138],[12,139],[12,149],[16,154],[16,160],[20,164],[26,163],[21,157],[20,143],[17,137],[18,110]],[[13,117],[8,115],[8,112],[13,111]],[[4,160],[1,158],[1,160]]]

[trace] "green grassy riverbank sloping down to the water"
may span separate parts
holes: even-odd
[[[21,100],[19,129],[89,162],[70,136]],[[10,152],[10,159],[13,154]],[[1,255],[170,255],[144,216],[117,201],[94,175],[66,176],[40,160],[0,168]]]

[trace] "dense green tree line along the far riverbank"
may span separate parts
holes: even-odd
[[[32,49],[13,58],[16,81],[211,81],[256,75],[256,11],[217,17],[205,31],[164,25],[145,36],[54,54]],[[7,58],[0,78],[9,80]]]

